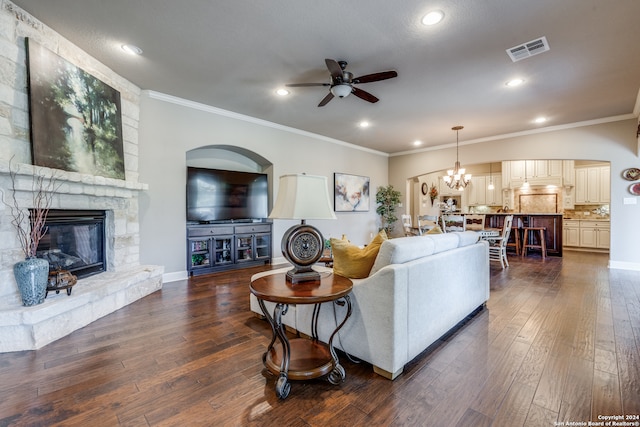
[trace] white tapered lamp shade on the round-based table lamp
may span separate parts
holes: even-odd
[[[276,219],[336,219],[327,178],[324,176],[282,175],[278,197],[269,218]]]

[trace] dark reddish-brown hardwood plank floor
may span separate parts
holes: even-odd
[[[640,415],[640,273],[607,255],[510,257],[487,309],[389,381],[275,396],[253,268],[165,284],[38,351],[0,354],[0,426],[554,426]],[[634,420],[635,421],[635,420]],[[558,424],[555,424],[555,423]],[[567,425],[567,424],[565,424]]]

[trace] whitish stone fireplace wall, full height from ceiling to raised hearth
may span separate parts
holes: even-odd
[[[25,38],[29,37],[120,91],[125,180],[31,165]],[[11,204],[9,168],[18,171],[16,197],[32,204],[35,175],[61,184],[53,209],[107,212],[107,271],[79,280],[71,296],[49,293],[44,304],[22,307],[13,264],[24,259],[9,207],[0,202],[0,352],[31,350],[71,333],[162,287],[163,268],[140,265],[138,182],[140,89],[88,56],[8,0],[0,0],[0,198]]]

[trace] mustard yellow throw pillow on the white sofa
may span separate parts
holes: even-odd
[[[371,267],[378,256],[380,245],[387,240],[384,230],[380,231],[364,248],[352,245],[348,240],[331,239],[333,252],[333,272],[350,279],[369,276]]]

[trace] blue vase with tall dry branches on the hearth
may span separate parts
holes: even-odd
[[[11,166],[11,163],[9,165]],[[42,304],[47,292],[49,261],[37,258],[36,251],[40,240],[47,232],[45,223],[58,185],[53,174],[49,177],[42,173],[34,175],[31,186],[33,207],[27,210],[20,207],[16,196],[17,170],[13,171],[9,167],[9,175],[13,199],[12,204],[6,204],[11,209],[13,217],[11,223],[17,231],[25,256],[24,261],[19,261],[13,266],[13,274],[20,290],[22,304],[24,306]]]

